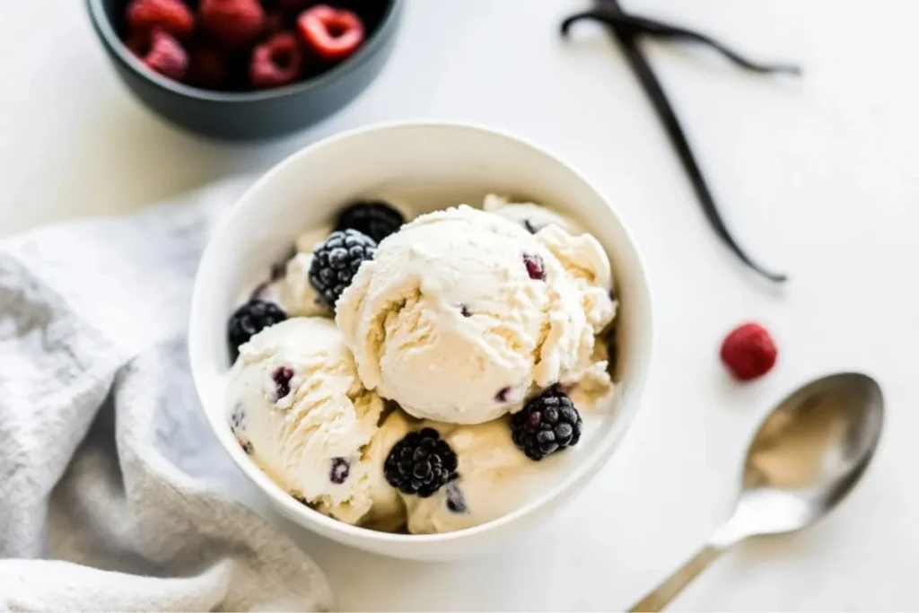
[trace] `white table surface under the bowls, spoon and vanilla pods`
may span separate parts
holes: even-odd
[[[219,176],[273,165],[370,122],[471,119],[579,166],[629,223],[656,312],[637,420],[596,482],[525,543],[473,562],[396,562],[298,534],[346,609],[627,607],[724,517],[751,428],[802,380],[876,376],[888,401],[879,454],[819,526],[750,542],[674,604],[697,610],[919,607],[919,3],[909,0],[626,0],[800,83],[745,74],[709,51],[648,45],[711,186],[750,251],[788,271],[765,291],[718,243],[618,50],[557,25],[577,0],[410,0],[380,80],[311,131],[271,144],[202,142],[132,99],[82,2],[8,2],[0,17],[0,233],[136,210]],[[754,319],[781,356],[739,387],[717,346]]]

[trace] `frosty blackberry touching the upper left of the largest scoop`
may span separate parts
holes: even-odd
[[[325,242],[312,252],[310,265],[310,285],[319,293],[319,301],[335,310],[335,302],[351,285],[357,268],[373,259],[376,252],[376,242],[357,230],[329,234]]]

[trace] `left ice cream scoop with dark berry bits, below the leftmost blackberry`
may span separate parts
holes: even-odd
[[[246,452],[301,502],[352,524],[375,495],[389,505],[362,461],[383,401],[360,384],[332,321],[292,318],[253,336],[240,348],[227,393]]]

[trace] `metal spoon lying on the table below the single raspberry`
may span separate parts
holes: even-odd
[[[808,383],[766,417],[747,450],[733,515],[631,611],[660,611],[733,545],[810,526],[845,498],[878,447],[884,398],[867,375]]]

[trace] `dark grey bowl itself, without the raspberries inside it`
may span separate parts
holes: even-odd
[[[148,70],[119,38],[126,5],[127,0],[86,0],[93,28],[134,95],[189,131],[219,139],[254,140],[301,130],[363,91],[389,57],[403,0],[380,1],[380,15],[368,24],[368,40],[345,62],[306,81],[258,92],[199,89]]]

